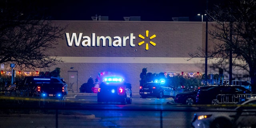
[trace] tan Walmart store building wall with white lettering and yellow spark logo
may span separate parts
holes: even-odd
[[[53,22],[63,27],[68,25],[52,56],[64,61],[56,67],[61,69],[60,76],[66,82],[74,83],[74,92],[79,92],[90,76],[95,82],[99,74],[122,74],[136,93],[143,68],[153,73],[205,71],[203,58],[187,61],[188,53],[205,49],[205,22]],[[209,29],[212,24],[208,22]],[[208,48],[212,44],[209,39]],[[208,68],[208,73],[212,72],[218,71]]]

